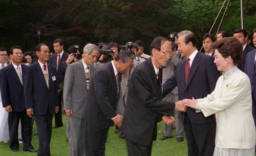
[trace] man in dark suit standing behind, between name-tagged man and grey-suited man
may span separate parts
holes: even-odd
[[[57,69],[57,74],[56,74],[56,80],[57,80],[57,86],[59,86],[61,83],[64,83],[64,77],[60,72],[61,69],[61,64],[63,61],[66,61],[69,57],[69,54],[63,51],[63,41],[61,39],[55,39],[53,41],[53,49],[55,53],[50,57],[49,59],[49,64],[55,66]],[[61,127],[63,126],[62,122],[62,112],[61,112],[61,103],[63,101],[63,92],[61,91],[58,94],[58,106],[59,106],[59,112],[55,114],[55,126],[53,128]]]

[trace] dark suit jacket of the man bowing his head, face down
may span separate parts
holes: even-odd
[[[105,129],[117,116],[117,82],[111,62],[100,66],[90,80],[86,122],[97,129]]]

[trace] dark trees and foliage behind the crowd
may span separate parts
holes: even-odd
[[[146,50],[156,36],[191,30],[201,38],[208,33],[221,8],[220,0],[0,0],[0,46],[34,51],[40,40],[49,44],[61,38],[65,50],[72,44],[143,40]],[[227,4],[227,2],[226,2]],[[224,6],[225,7],[225,6]],[[256,28],[256,3],[243,1],[244,29]],[[220,19],[212,33],[216,33]],[[241,27],[240,0],[230,1],[220,30],[230,35]],[[146,52],[147,53],[147,52]]]

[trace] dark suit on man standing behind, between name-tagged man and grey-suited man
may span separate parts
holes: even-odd
[[[60,58],[59,66],[57,66],[57,58],[58,58],[57,53],[54,53],[53,56],[49,59],[49,64],[55,66],[55,68],[57,69],[57,73],[56,73],[57,86],[59,86],[61,83],[64,83],[65,73],[63,73],[60,69],[63,62],[65,62],[68,59],[68,57],[69,57],[69,54],[66,52],[63,52]],[[63,101],[62,96],[63,96],[63,92],[60,92],[58,95],[59,112],[55,114],[55,126],[63,126],[62,111],[61,111],[61,108],[62,108],[61,101]]]

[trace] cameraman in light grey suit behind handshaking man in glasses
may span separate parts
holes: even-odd
[[[170,59],[167,62],[167,65],[165,68],[163,68],[163,82],[172,77],[176,71],[177,64],[183,59],[180,56],[180,52],[177,51],[178,45],[177,45],[177,39],[178,35],[177,33],[171,33],[169,36],[169,41],[172,44],[172,52]],[[179,101],[179,93],[178,93],[178,87],[176,87],[170,94],[168,94],[163,100],[165,101],[172,101],[177,102]],[[184,141],[183,138],[183,131],[184,131],[184,117],[181,115],[181,112],[175,109],[175,115],[176,115],[176,139],[178,142]],[[165,140],[169,138],[173,138],[172,135],[172,129],[174,125],[164,125],[164,136],[160,140]]]

